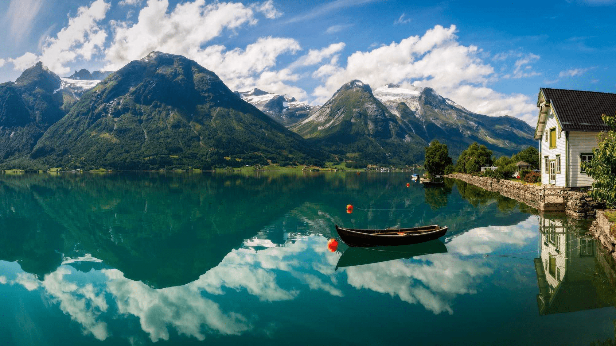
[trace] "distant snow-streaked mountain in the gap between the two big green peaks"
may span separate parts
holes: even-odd
[[[235,94],[242,100],[259,108],[263,113],[280,121],[286,127],[306,119],[312,111],[318,108],[304,102],[298,102],[294,97],[286,94],[274,94],[257,88],[245,92],[236,91]]]

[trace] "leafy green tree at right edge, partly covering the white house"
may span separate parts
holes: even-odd
[[[601,118],[611,130],[599,135],[593,159],[582,163],[582,168],[594,179],[590,195],[605,200],[607,207],[613,208],[616,207],[616,116],[602,115]]]

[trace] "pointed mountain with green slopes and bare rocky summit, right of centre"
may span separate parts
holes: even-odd
[[[428,144],[379,102],[361,81],[344,84],[291,130],[334,154],[364,163],[413,164]]]

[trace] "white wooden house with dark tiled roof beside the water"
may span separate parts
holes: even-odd
[[[556,187],[590,187],[593,179],[582,161],[593,157],[599,132],[609,130],[601,115],[614,115],[616,94],[566,89],[539,89],[541,183]]]

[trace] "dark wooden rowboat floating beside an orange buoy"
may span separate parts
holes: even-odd
[[[447,227],[429,225],[411,228],[386,228],[384,230],[362,230],[336,226],[338,235],[348,246],[396,246],[418,244],[440,238],[447,233]]]

